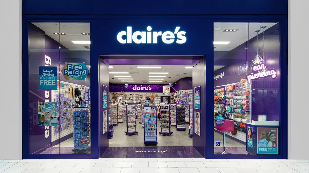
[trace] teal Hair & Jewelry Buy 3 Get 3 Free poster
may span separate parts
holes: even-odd
[[[39,66],[39,90],[57,90],[57,66]]]

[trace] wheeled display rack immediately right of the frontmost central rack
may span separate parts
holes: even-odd
[[[170,117],[170,105],[160,105],[160,118],[161,118],[161,135],[171,135],[171,117]]]

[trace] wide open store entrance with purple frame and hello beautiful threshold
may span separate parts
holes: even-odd
[[[198,66],[203,56],[100,56],[101,157],[204,157],[203,113],[193,120]]]

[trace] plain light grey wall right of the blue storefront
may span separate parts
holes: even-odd
[[[288,159],[309,159],[308,6],[288,0]]]

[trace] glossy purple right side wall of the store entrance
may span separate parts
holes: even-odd
[[[193,147],[202,155],[204,156],[204,138],[205,138],[205,124],[204,124],[204,120],[205,120],[205,115],[204,115],[204,61],[199,62],[197,65],[193,66],[193,88],[197,87],[197,86],[201,86],[201,90],[200,90],[200,100],[201,100],[201,106],[200,106],[200,110],[199,109],[195,109],[194,105],[193,105],[193,115],[194,112],[199,112],[201,113],[201,117],[200,117],[200,135],[197,135],[196,133],[194,133],[194,123],[193,123]],[[194,94],[193,94],[193,103],[194,103]],[[195,119],[193,119],[193,121],[195,121]]]

